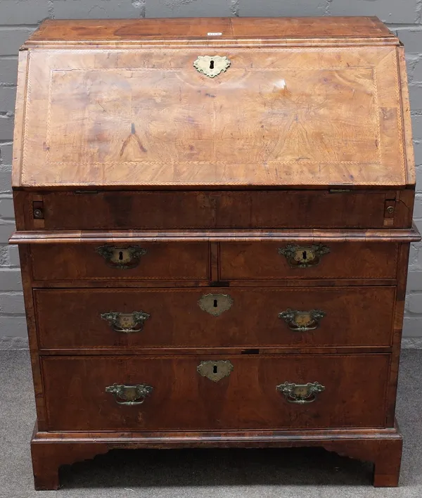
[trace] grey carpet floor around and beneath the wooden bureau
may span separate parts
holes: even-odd
[[[324,449],[115,450],[64,466],[62,488],[34,491],[29,356],[0,351],[0,497],[422,498],[422,350],[404,350],[397,416],[400,487],[371,485],[371,464]]]

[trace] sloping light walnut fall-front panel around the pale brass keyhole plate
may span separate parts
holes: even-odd
[[[395,47],[223,53],[31,51],[20,185],[406,184]]]

